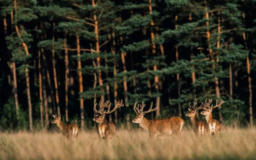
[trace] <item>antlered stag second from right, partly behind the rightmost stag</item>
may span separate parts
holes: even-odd
[[[190,117],[190,120],[192,122],[192,124],[194,125],[194,132],[198,135],[198,136],[201,136],[201,135],[206,135],[207,133],[207,125],[205,122],[203,121],[198,121],[198,118],[197,118],[197,110],[198,109],[201,109],[205,106],[203,106],[203,102],[201,104],[200,107],[197,107],[195,108],[195,105],[197,103],[194,102],[193,106],[191,107],[190,106],[190,102],[189,102],[189,112],[186,113],[186,116],[189,116]],[[203,107],[202,107],[203,106]]]

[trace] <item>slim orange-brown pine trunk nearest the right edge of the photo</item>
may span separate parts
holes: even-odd
[[[245,18],[245,14],[243,12],[243,21]],[[244,39],[244,45],[245,49],[248,50],[247,42],[246,42],[246,36],[243,32],[243,39]],[[253,91],[252,91],[252,82],[250,77],[250,59],[249,56],[246,57],[246,64],[247,64],[247,75],[248,75],[248,88],[249,88],[249,120],[250,120],[250,126],[253,126]]]

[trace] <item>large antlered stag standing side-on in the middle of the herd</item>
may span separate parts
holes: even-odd
[[[143,111],[145,104],[144,101],[142,104],[137,102],[134,104],[134,112],[137,114],[136,117],[132,120],[133,123],[140,124],[140,127],[147,130],[149,133],[149,138],[156,138],[157,136],[168,136],[173,134],[180,134],[180,131],[185,124],[185,121],[179,117],[169,117],[162,119],[153,119],[147,120],[144,115],[148,112],[153,112],[159,109],[159,104],[152,109],[153,102],[151,102],[151,107],[148,111]]]

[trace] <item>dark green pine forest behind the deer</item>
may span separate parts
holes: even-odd
[[[178,116],[223,99],[221,124],[253,126],[256,0],[0,0],[0,130],[81,130],[94,104],[131,129],[134,103]],[[204,117],[200,117],[203,119]]]

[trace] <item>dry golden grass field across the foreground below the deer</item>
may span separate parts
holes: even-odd
[[[256,159],[256,129],[221,130],[218,137],[180,136],[148,140],[142,130],[120,130],[108,143],[96,132],[65,142],[61,133],[0,133],[0,160],[241,160]]]

